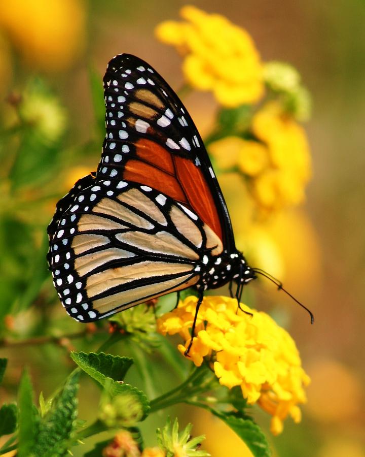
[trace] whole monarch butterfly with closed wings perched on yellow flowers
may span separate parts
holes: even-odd
[[[48,263],[67,313],[82,322],[173,291],[237,283],[259,270],[237,251],[221,188],[192,118],[151,66],[114,57],[104,79],[106,136],[48,226]],[[193,328],[194,331],[194,328]]]

